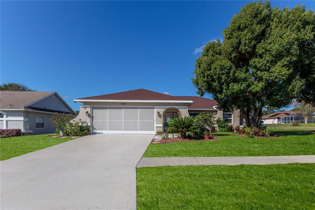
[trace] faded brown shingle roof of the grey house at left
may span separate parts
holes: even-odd
[[[24,106],[35,102],[51,93],[48,91],[0,91],[0,108],[24,109]],[[10,106],[11,104],[11,106]]]

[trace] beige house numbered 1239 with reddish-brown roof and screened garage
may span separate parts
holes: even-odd
[[[172,118],[213,112],[230,125],[243,122],[239,110],[220,109],[217,102],[198,96],[171,96],[145,89],[75,99],[81,119],[95,133],[154,134]]]

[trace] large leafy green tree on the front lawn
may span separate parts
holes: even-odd
[[[315,15],[297,5],[272,8],[270,2],[246,4],[197,58],[193,84],[211,93],[220,107],[240,109],[247,125],[259,126],[262,108],[281,108],[312,95]],[[312,75],[311,75],[312,76]],[[311,100],[311,96],[309,99]],[[251,112],[253,114],[251,114]]]

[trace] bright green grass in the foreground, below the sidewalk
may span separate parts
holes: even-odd
[[[315,164],[137,168],[138,209],[315,209]]]

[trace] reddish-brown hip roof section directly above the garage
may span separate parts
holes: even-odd
[[[182,101],[183,99],[177,96],[171,96],[163,93],[154,92],[146,89],[129,90],[119,93],[111,93],[100,96],[91,96],[85,98],[86,100],[168,100],[168,101]]]

